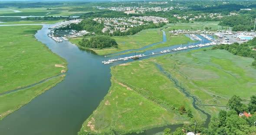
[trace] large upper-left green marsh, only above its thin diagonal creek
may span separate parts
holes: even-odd
[[[0,27],[0,93],[35,84],[66,71],[66,61],[35,39],[42,26]],[[60,64],[63,67],[56,67]]]

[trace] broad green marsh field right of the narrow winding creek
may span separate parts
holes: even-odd
[[[159,57],[158,62],[173,74],[185,88],[199,97],[203,105],[226,106],[238,95],[244,102],[256,94],[256,69],[253,59],[230,54],[224,50],[189,51]],[[211,115],[219,107],[203,107]]]

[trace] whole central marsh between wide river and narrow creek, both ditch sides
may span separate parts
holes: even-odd
[[[158,70],[155,62],[149,59],[112,67],[112,87],[84,122],[81,132],[125,134],[187,123],[187,115],[180,115],[177,111],[181,105],[192,110],[195,117],[205,118],[193,108],[190,99]]]

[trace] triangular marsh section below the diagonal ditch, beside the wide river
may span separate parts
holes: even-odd
[[[124,135],[166,124],[181,123],[185,118],[167,111],[148,98],[112,78],[112,87],[99,107],[83,124],[79,135]],[[88,132],[87,132],[88,131]]]

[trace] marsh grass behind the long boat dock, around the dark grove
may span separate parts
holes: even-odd
[[[168,24],[169,26],[171,24]],[[169,28],[168,28],[169,29]],[[180,44],[187,44],[188,42],[195,42],[188,38],[186,35],[170,35],[168,34],[168,30],[164,29],[166,31],[166,39],[167,41],[158,45],[153,45],[149,48],[143,49],[141,51],[136,52],[143,52],[155,48],[161,48],[161,47],[167,47],[172,45],[180,45]],[[154,37],[154,38],[152,38]],[[89,39],[90,37],[88,37]],[[161,32],[161,29],[145,29],[141,32],[138,32],[135,35],[128,35],[128,36],[112,36],[113,39],[118,43],[118,48],[105,48],[105,49],[93,49],[98,55],[108,55],[120,51],[125,51],[128,49],[138,49],[142,48],[147,45],[151,45],[153,43],[161,42],[163,41],[163,33]],[[81,41],[82,38],[73,38],[69,39],[70,42],[75,43],[75,45],[78,45],[79,47],[82,47],[78,44],[79,41]],[[83,47],[82,47],[83,48]],[[128,54],[135,51],[128,51],[122,54]]]

